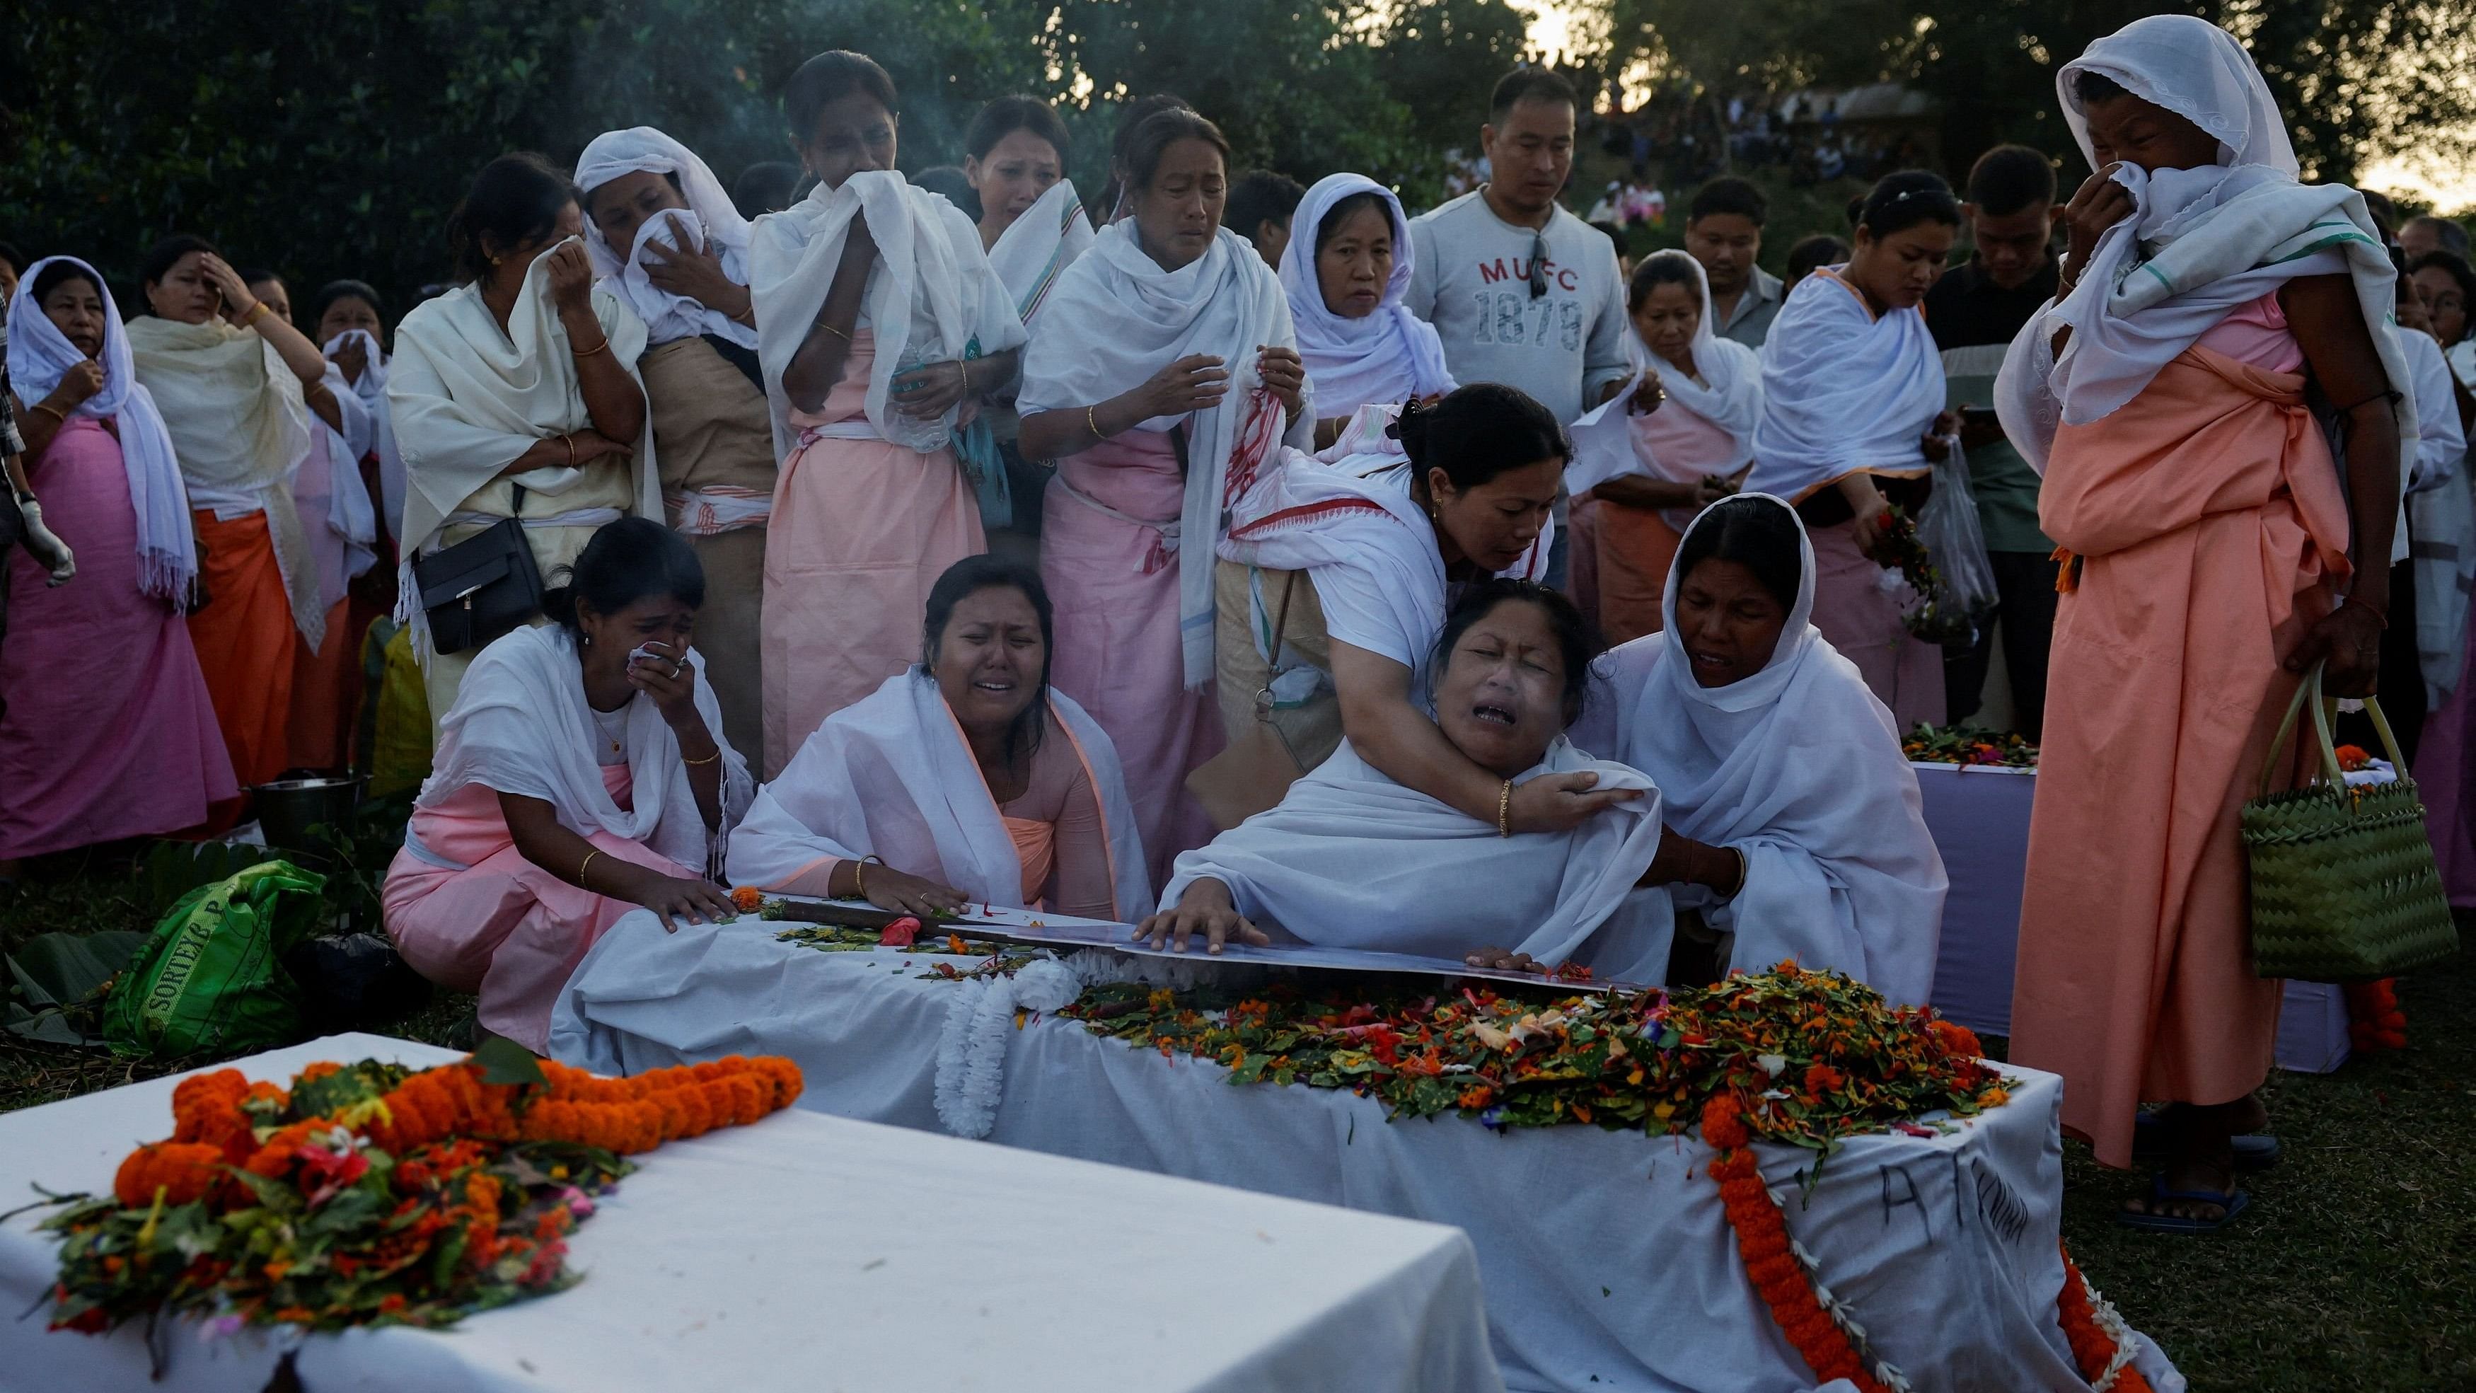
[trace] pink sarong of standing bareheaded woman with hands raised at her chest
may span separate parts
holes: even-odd
[[[1151,883],[1213,839],[1186,774],[1221,752],[1213,688],[1186,690],[1179,653],[1179,547],[1186,478],[1161,431],[1127,431],[1057,463],[1040,512],[1040,579],[1057,609],[1050,683],[1109,732]]]

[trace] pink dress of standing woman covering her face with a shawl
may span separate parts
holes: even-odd
[[[827,715],[921,661],[928,586],[988,549],[953,450],[817,433],[867,426],[872,341],[852,334],[825,411],[790,416],[805,433],[782,460],[765,532],[768,779]]]

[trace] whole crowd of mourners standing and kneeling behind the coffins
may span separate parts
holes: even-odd
[[[1084,198],[1030,96],[899,173],[894,79],[827,52],[797,163],[730,186],[656,126],[490,161],[401,314],[186,233],[129,299],[0,252],[0,876],[394,762],[389,933],[530,1047],[602,928],[725,915],[725,868],[1919,1002],[1946,878],[1899,732],[2001,671],[2048,750],[2013,1059],[2107,1163],[2152,1118],[2129,1217],[2214,1227],[2275,1019],[2231,821],[2263,713],[2325,663],[2476,752],[2476,272],[2459,223],[2295,183],[2228,35],[2134,30],[2063,67],[2102,171],[2067,198],[2040,151],[1951,188],[1830,109],[1684,92],[1575,193],[1545,69],[1473,94],[1416,215],[1231,168],[1166,94]],[[1879,178],[1765,257],[1721,151]],[[1595,223],[1669,215],[1654,158],[1696,188],[1634,265]],[[2159,210],[2164,299],[2092,292]],[[1991,579],[1926,633],[1936,495]],[[2127,829],[2169,784],[2204,794]]]

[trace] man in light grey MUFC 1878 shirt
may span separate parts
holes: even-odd
[[[1557,205],[1575,111],[1572,84],[1555,72],[1520,67],[1496,84],[1478,129],[1488,183],[1411,218],[1404,297],[1444,339],[1453,381],[1515,386],[1567,426],[1632,376],[1617,247]],[[1562,586],[1562,497],[1555,517],[1548,584]]]

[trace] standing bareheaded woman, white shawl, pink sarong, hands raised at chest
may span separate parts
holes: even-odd
[[[1315,418],[1273,267],[1221,225],[1228,141],[1159,111],[1127,144],[1134,213],[1057,280],[1023,366],[1023,453],[1057,460],[1040,572],[1057,685],[1127,760],[1154,873],[1211,836],[1186,774],[1221,750],[1213,544]]]

